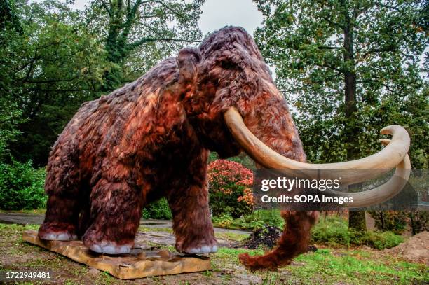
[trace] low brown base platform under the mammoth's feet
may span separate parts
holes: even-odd
[[[200,272],[210,270],[207,256],[184,256],[163,251],[132,249],[123,256],[107,256],[90,251],[81,241],[46,241],[37,237],[36,230],[26,230],[22,239],[50,251],[67,256],[78,263],[109,272],[119,279],[137,279],[150,276]]]

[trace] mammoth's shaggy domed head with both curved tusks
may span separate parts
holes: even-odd
[[[240,27],[226,27],[208,36],[195,49],[186,48],[177,56],[179,82],[186,86],[183,104],[203,144],[228,157],[243,150],[259,165],[287,175],[333,179],[332,171],[303,172],[308,169],[336,169],[343,183],[374,179],[396,167],[393,177],[382,186],[362,193],[337,193],[353,197],[348,207],[365,207],[390,199],[402,190],[409,178],[407,155],[409,135],[403,127],[390,125],[381,134],[382,151],[360,160],[331,164],[309,164],[302,149],[292,116],[271,72],[252,37]],[[353,169],[371,169],[353,172]],[[310,173],[310,174],[309,174]],[[318,175],[318,176],[316,176]]]

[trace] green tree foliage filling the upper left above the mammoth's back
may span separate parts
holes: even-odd
[[[201,38],[199,0],[93,0],[83,12],[68,4],[0,1],[0,94],[20,111],[6,148],[37,167],[83,102]]]

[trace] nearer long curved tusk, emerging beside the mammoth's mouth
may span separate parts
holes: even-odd
[[[285,158],[273,151],[247,129],[237,109],[230,107],[224,113],[226,125],[234,139],[256,162],[268,169],[275,169],[287,175],[305,176],[311,179],[336,179],[341,176],[341,183],[360,183],[376,178],[390,171],[404,160],[409,148],[409,134],[400,125],[390,125],[381,130],[381,134],[392,134],[392,140],[383,150],[359,160],[348,162],[310,164]],[[308,169],[317,171],[308,172]],[[328,169],[321,172],[319,169]],[[356,171],[353,169],[367,169]],[[304,172],[304,170],[306,170]],[[335,171],[332,171],[335,170]]]

